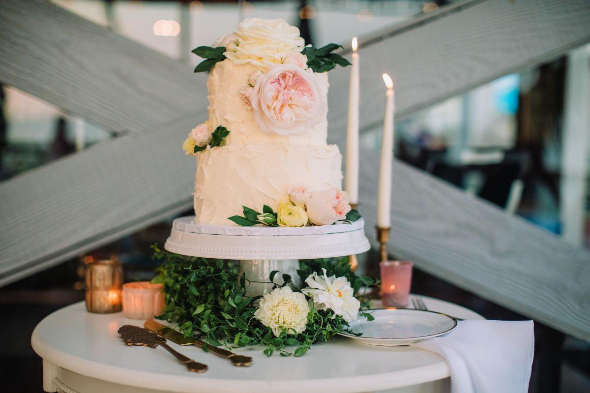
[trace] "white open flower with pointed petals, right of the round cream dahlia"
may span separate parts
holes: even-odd
[[[332,310],[335,315],[342,315],[346,322],[352,322],[359,313],[360,302],[353,296],[353,290],[345,277],[323,276],[311,274],[305,282],[309,287],[301,290],[313,299],[313,307],[317,310]]]

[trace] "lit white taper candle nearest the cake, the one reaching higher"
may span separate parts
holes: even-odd
[[[348,91],[348,128],[346,132],[345,189],[350,204],[359,202],[359,54],[356,37],[352,38],[350,88]]]

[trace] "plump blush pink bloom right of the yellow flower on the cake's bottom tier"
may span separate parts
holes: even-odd
[[[306,203],[309,221],[316,225],[331,225],[344,220],[350,211],[348,201],[348,194],[338,188],[314,192]]]

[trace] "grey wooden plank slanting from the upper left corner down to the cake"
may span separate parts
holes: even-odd
[[[206,106],[206,77],[47,1],[0,2],[0,81],[114,131]]]

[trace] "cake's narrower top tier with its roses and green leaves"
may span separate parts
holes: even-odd
[[[185,141],[187,153],[222,145],[326,145],[326,71],[348,61],[339,45],[304,46],[283,19],[245,19],[212,47],[195,72],[211,71],[209,119]]]

